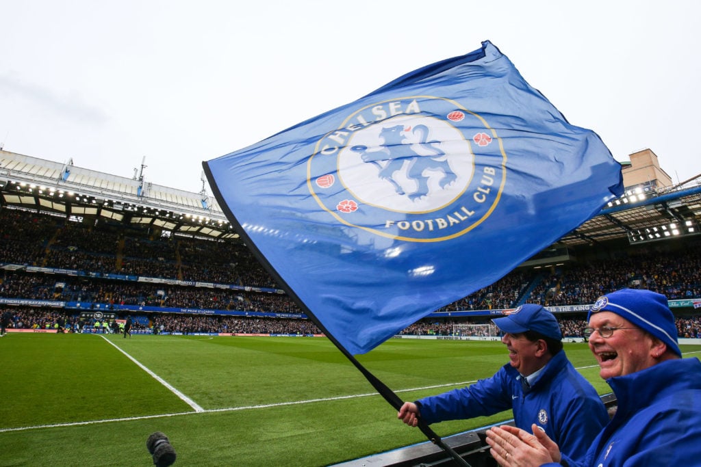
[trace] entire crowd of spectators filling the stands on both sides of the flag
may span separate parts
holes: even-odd
[[[440,311],[510,309],[521,302],[545,306],[589,305],[600,295],[624,287],[649,288],[667,295],[670,300],[701,298],[701,242],[696,240],[676,249],[669,246],[672,244],[660,242],[644,249],[600,252],[595,258],[549,267],[541,272],[515,270]],[[278,286],[243,244],[160,236],[152,230],[139,230],[138,225],[114,225],[104,221],[76,223],[62,216],[0,209],[2,263],[79,270],[90,275],[43,274],[8,267],[1,272],[0,298],[81,302],[102,309],[113,305],[140,305],[181,309],[179,311],[301,313],[285,294],[256,291]],[[184,282],[154,284],[106,279],[101,274]],[[194,286],[195,282],[234,287]],[[210,316],[211,313],[190,316],[186,310],[184,314],[158,313],[161,316],[158,326],[164,326],[166,332],[215,328],[217,332],[231,332],[229,329],[242,325],[226,316]],[[250,319],[243,319],[243,323],[246,329],[260,328],[252,326],[254,321]],[[304,320],[261,323],[275,329],[292,327],[293,333],[297,332],[295,326],[306,328],[310,324]],[[454,323],[454,320],[421,320],[404,333],[449,335]],[[584,324],[564,319],[562,326],[564,335],[579,335]],[[693,317],[679,326],[680,336],[699,333],[697,319]]]

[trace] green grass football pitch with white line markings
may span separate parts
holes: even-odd
[[[586,344],[565,349],[607,393]],[[149,466],[154,431],[176,465],[327,466],[426,441],[324,338],[10,333],[0,356],[0,466]],[[396,339],[358,360],[415,400],[508,359],[501,342]]]

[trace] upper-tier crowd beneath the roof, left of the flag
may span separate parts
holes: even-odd
[[[0,209],[0,239],[1,263],[279,288],[242,244],[154,237],[138,225],[83,224]]]

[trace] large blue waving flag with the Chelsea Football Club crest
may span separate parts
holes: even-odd
[[[203,165],[261,263],[351,354],[493,284],[622,193],[597,134],[489,41]]]

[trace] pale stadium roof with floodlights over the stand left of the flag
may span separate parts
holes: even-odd
[[[154,225],[185,235],[236,239],[207,195],[0,150],[0,203],[49,214]]]

